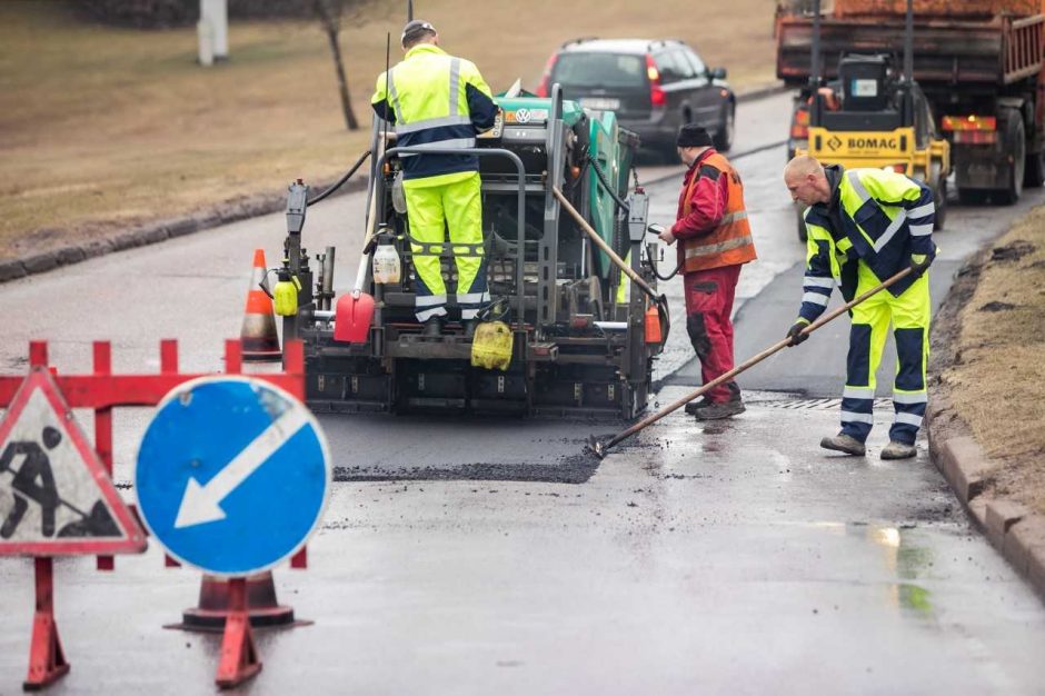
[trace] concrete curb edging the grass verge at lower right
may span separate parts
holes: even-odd
[[[925,428],[933,463],[974,524],[1045,601],[1045,517],[984,493],[999,464],[984,454],[947,397],[932,385],[929,392]]]

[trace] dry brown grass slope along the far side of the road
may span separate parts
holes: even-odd
[[[533,87],[556,46],[591,34],[683,38],[736,87],[773,79],[774,0],[736,0],[728,16],[684,0],[655,11],[605,0],[574,0],[568,12],[553,0],[424,6],[444,47],[475,60],[495,90],[516,77]],[[365,123],[387,31],[398,59],[402,14],[390,2],[342,34]],[[0,2],[0,259],[280,191],[298,176],[330,179],[366,148],[367,128],[344,128],[318,22],[233,22],[229,46],[229,62],[203,69],[192,29],[112,29],[56,1]]]

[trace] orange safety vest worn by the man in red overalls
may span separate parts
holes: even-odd
[[[721,222],[708,235],[700,235],[689,239],[680,239],[679,255],[683,257],[683,271],[707,270],[723,266],[739,266],[754,261],[755,241],[752,239],[752,228],[747,223],[747,209],[744,208],[744,187],[740,176],[729,165],[729,160],[715,152],[700,162],[701,166],[714,167],[726,177],[728,200]],[[697,185],[700,172],[695,171],[689,186],[686,187],[686,198],[683,200],[683,217],[689,215],[693,189]]]

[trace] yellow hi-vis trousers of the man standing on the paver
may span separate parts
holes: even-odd
[[[418,321],[446,316],[446,282],[439,262],[441,245],[449,230],[457,266],[457,304],[461,319],[475,319],[490,301],[487,289],[486,256],[482,253],[482,197],[479,172],[444,175],[404,181],[410,248],[417,272],[416,315]]]

